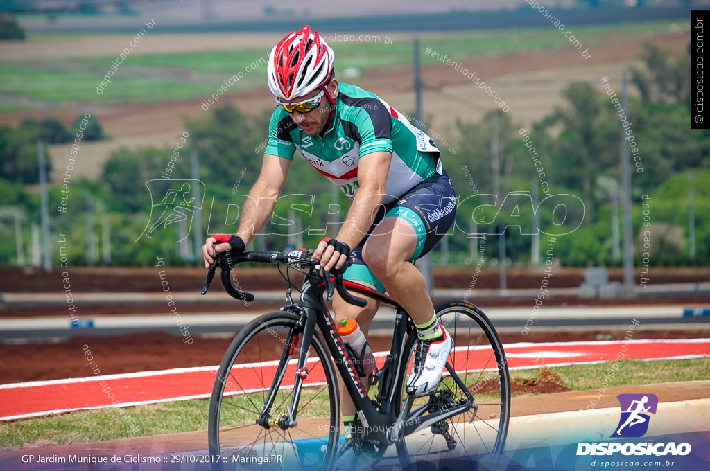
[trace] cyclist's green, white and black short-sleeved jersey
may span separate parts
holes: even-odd
[[[291,160],[298,150],[315,170],[351,198],[360,186],[360,159],[378,150],[392,153],[384,204],[433,174],[442,174],[434,141],[412,126],[406,116],[376,94],[354,85],[338,86],[336,112],[322,137],[301,131],[278,106],[271,115],[265,153]]]

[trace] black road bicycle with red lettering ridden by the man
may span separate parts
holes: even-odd
[[[312,250],[223,253],[209,268],[202,294],[218,265],[224,289],[241,301],[253,300],[232,272],[241,262],[276,263],[288,282],[285,306],[242,328],[216,373],[209,404],[214,469],[354,470],[426,462],[436,469],[472,470],[471,463],[501,453],[510,377],[488,317],[466,301],[437,304],[437,318],[454,338],[454,349],[437,389],[410,396],[405,384],[417,335],[405,309],[386,294],[324,272],[312,255]],[[296,272],[304,275],[300,289],[291,281]],[[300,292],[297,302],[292,289]],[[327,308],[334,291],[356,306],[368,301],[350,292],[395,310],[391,350],[376,354],[379,368],[369,391],[359,359],[343,343]],[[340,428],[337,374],[358,410],[350,440]]]

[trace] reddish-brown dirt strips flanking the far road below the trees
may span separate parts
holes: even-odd
[[[550,278],[550,288],[579,287],[584,281],[584,268],[559,267],[555,269],[555,277]],[[205,271],[202,268],[170,267],[167,275],[170,278],[170,289],[173,293],[192,293],[196,295],[204,283]],[[700,283],[710,281],[710,268],[686,267],[653,268],[648,284],[669,283]],[[508,269],[508,289],[535,289],[540,286],[542,269]],[[640,277],[637,270],[636,279]],[[439,268],[434,270],[435,287],[459,287],[466,289],[471,284],[471,270],[466,268]],[[609,279],[621,281],[623,270],[611,268]],[[35,269],[0,269],[0,286],[5,293],[37,293],[36,301],[26,304],[7,304],[0,301],[0,318],[66,316],[66,306],[42,303],[41,293],[58,293],[62,291],[61,277],[58,272],[46,273]],[[110,301],[82,301],[85,314],[119,315],[127,313],[165,314],[163,297],[156,296],[152,302],[128,303],[121,302],[120,293],[157,293],[160,292],[160,279],[155,268],[121,268],[121,267],[74,267],[71,269],[72,292],[83,293],[114,293]],[[239,283],[246,291],[276,290],[285,292],[286,284],[278,275],[278,270],[269,267],[253,267],[239,272]],[[498,289],[498,270],[484,269],[476,280],[476,289],[471,301],[486,309],[489,307],[527,307],[532,302],[530,297],[500,297],[496,292],[486,290]],[[217,279],[212,282],[211,291],[219,293],[212,301],[195,299],[181,301],[180,311],[187,314],[219,313],[251,311],[266,312],[278,309],[278,302],[256,301],[249,306],[236,304],[222,291]],[[448,298],[448,297],[447,297]],[[435,299],[442,301],[443,299]],[[635,299],[580,299],[576,294],[555,294],[546,301],[550,306],[622,306],[650,304],[710,304],[710,292],[697,291],[694,294],[675,296],[642,296]]]

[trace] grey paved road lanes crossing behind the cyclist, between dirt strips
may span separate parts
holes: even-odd
[[[637,297],[652,296],[655,299],[674,299],[682,302],[684,295],[710,293],[710,282],[676,283],[649,285],[648,289],[636,287]],[[657,306],[554,306],[549,297],[574,296],[579,293],[577,288],[550,289],[549,294],[542,299],[539,309],[535,307],[537,289],[476,289],[473,293],[465,289],[435,289],[435,299],[464,299],[476,304],[479,296],[493,296],[498,299],[526,299],[529,307],[500,308],[488,307],[484,312],[491,318],[499,331],[505,329],[522,329],[527,323],[530,326],[545,328],[586,328],[586,327],[619,327],[630,323],[636,318],[644,326],[710,325],[710,306],[697,304],[676,304]],[[255,299],[267,303],[271,309],[245,312],[242,314],[214,314],[212,312],[190,313],[180,312],[182,321],[189,326],[192,336],[234,336],[236,331],[246,326],[253,318],[263,312],[273,310],[284,301],[283,290],[254,292]],[[175,318],[165,306],[165,295],[161,293],[86,293],[76,294],[77,304],[82,306],[78,323],[72,324],[72,319],[66,316],[38,316],[27,318],[0,318],[0,343],[25,343],[43,340],[65,340],[78,335],[119,336],[129,333],[146,331],[163,331],[180,336]],[[180,305],[200,301],[229,301],[229,297],[219,289],[210,290],[206,297],[197,293],[173,293],[173,299]],[[43,307],[61,306],[65,304],[62,293],[1,293],[0,305],[22,309],[41,311]],[[101,305],[124,306],[126,314],[92,313],[92,306]],[[141,312],[146,304],[165,306],[164,314]],[[253,306],[252,306],[253,307]],[[684,316],[684,310],[704,309],[706,315]],[[145,308],[143,308],[145,309]],[[234,305],[239,311],[239,304]],[[387,306],[382,307],[373,320],[371,330],[391,330],[394,325],[394,311]]]

